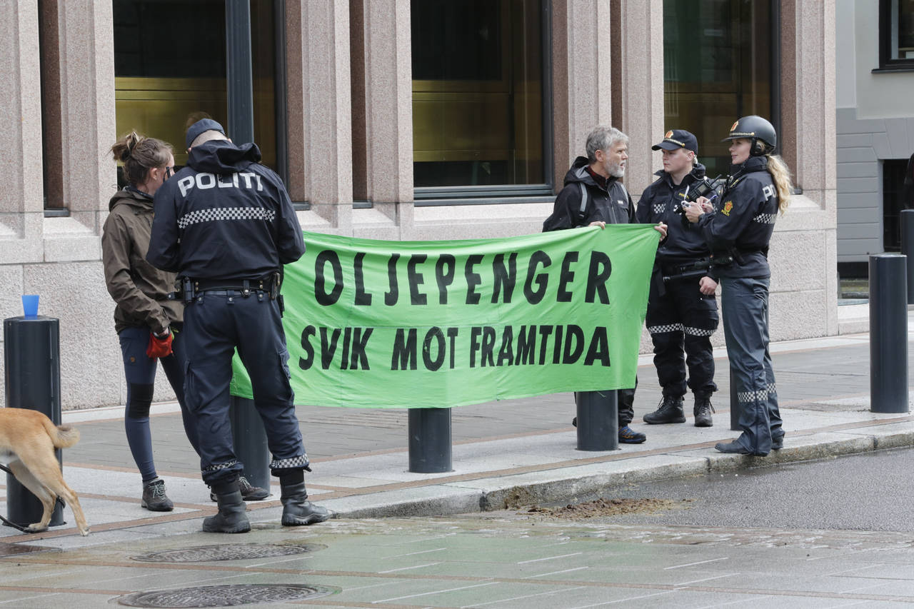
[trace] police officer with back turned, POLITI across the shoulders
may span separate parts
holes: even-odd
[[[282,485],[282,524],[322,522],[329,512],[306,500],[310,468],[277,300],[282,265],[304,253],[302,229],[282,180],[260,165],[256,144],[232,144],[212,119],[192,124],[186,144],[187,166],[155,193],[146,259],[184,279],[185,397],[197,417],[203,480],[219,509],[203,530],[250,530],[228,420],[236,347]]]

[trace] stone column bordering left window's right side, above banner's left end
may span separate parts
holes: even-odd
[[[352,224],[348,0],[286,3],[289,192],[329,232]]]

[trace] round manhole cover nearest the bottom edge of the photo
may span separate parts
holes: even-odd
[[[239,604],[301,601],[337,592],[338,588],[297,583],[239,583],[133,593],[118,598],[117,602],[128,607],[234,607]]]

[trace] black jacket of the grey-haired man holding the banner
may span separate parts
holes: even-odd
[[[607,224],[629,224],[634,221],[634,204],[628,191],[616,177],[597,184],[587,172],[590,162],[584,156],[575,159],[565,174],[565,187],[558,193],[555,207],[545,222],[543,231],[574,229],[602,220]],[[584,193],[587,200],[584,200]],[[581,208],[583,203],[583,209]]]

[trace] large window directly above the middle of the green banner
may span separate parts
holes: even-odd
[[[541,0],[412,2],[417,199],[550,192],[544,14]]]

